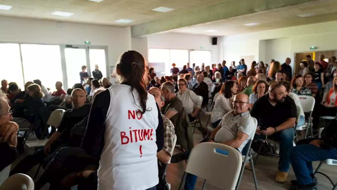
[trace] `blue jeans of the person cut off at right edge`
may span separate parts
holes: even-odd
[[[312,161],[337,159],[336,149],[321,149],[309,143],[315,139],[303,139],[298,142],[298,146],[289,150],[290,163],[299,185],[305,186],[312,182],[313,168]]]

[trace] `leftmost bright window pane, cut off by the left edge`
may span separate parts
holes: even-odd
[[[0,80],[5,79],[8,83],[16,82],[22,90],[24,89],[19,44],[0,44],[0,67],[2,71]]]

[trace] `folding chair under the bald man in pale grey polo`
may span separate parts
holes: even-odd
[[[257,119],[254,119],[254,123],[255,123],[255,130],[256,130],[256,127],[257,127]],[[255,131],[254,130],[254,131]],[[255,135],[255,134],[254,134]],[[249,140],[248,142],[248,150],[247,150],[247,153],[246,155],[242,155],[242,158],[243,158],[243,162],[242,162],[242,166],[241,166],[241,171],[240,171],[240,175],[239,175],[239,179],[238,179],[238,183],[236,185],[236,188],[235,190],[238,190],[239,189],[239,186],[240,186],[240,183],[241,183],[241,178],[243,176],[243,170],[245,169],[245,165],[246,163],[250,163],[250,167],[251,167],[251,170],[252,170],[252,173],[253,173],[253,179],[254,179],[254,184],[255,184],[255,189],[257,190],[258,187],[257,187],[257,180],[256,180],[256,174],[255,174],[255,168],[254,168],[254,163],[253,163],[253,156],[251,155],[251,151],[250,151],[250,147],[252,145],[252,142],[253,142],[253,139],[254,139],[254,135],[253,137]]]

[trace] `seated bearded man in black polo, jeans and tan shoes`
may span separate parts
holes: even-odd
[[[258,99],[250,111],[250,115],[258,120],[254,139],[276,140],[280,143],[280,159],[276,182],[287,181],[289,170],[288,150],[293,147],[294,125],[296,123],[296,104],[286,96],[286,88],[275,82],[268,93]]]

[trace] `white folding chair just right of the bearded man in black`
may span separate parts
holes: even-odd
[[[311,138],[312,138],[313,132],[312,132],[311,115],[312,115],[312,112],[313,112],[314,106],[315,106],[315,98],[311,97],[311,96],[303,96],[303,95],[300,95],[298,97],[300,99],[300,103],[301,103],[303,112],[309,113],[309,117],[308,117],[308,122],[305,122],[304,125],[302,125],[302,126],[297,126],[296,130],[304,130],[305,129],[304,138],[306,139],[307,135],[308,135],[308,130],[310,128],[310,135],[311,135]]]

